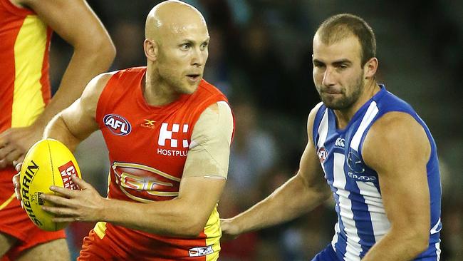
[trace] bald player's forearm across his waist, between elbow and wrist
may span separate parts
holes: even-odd
[[[99,220],[157,235],[197,237],[207,221],[202,211],[207,210],[184,204],[178,198],[147,204],[107,199]]]

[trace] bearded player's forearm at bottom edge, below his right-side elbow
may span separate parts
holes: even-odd
[[[413,232],[390,230],[368,251],[363,261],[413,260],[426,250],[428,239]]]

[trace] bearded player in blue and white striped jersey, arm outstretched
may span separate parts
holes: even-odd
[[[312,56],[322,102],[308,116],[298,173],[222,220],[225,236],[291,220],[333,195],[335,235],[313,260],[439,260],[435,141],[412,107],[377,83],[375,56],[375,34],[363,19],[323,21]]]

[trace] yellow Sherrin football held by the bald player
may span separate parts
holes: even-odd
[[[45,203],[40,195],[55,195],[56,193],[50,190],[51,185],[71,190],[79,189],[71,179],[72,175],[81,178],[76,158],[71,150],[58,140],[39,140],[26,154],[19,175],[21,200],[29,218],[41,229],[56,231],[68,225],[51,221],[54,215],[41,208],[51,203]]]

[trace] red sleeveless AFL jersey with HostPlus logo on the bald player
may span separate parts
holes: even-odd
[[[141,87],[145,72],[146,67],[118,71],[98,101],[96,121],[111,165],[108,198],[137,203],[176,198],[194,124],[204,109],[227,102],[217,88],[202,80],[191,95],[166,106],[149,106]],[[117,242],[115,251],[126,259],[213,260],[220,250],[217,206],[196,238],[154,235],[105,222],[98,222],[94,231]]]

